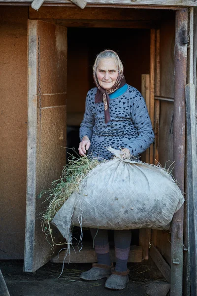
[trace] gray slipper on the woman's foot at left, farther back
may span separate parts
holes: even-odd
[[[113,263],[111,266],[94,263],[93,267],[90,270],[81,273],[80,279],[85,281],[96,281],[109,277],[111,275],[112,267]]]

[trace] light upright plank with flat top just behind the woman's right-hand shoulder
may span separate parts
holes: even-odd
[[[150,75],[142,74],[141,75],[141,93],[146,102],[148,113],[150,115]],[[150,161],[150,148],[145,151],[145,162],[149,163]]]

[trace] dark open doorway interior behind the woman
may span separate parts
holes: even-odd
[[[95,87],[92,68],[96,55],[116,51],[128,84],[141,91],[141,74],[150,72],[150,29],[67,29],[67,157],[77,156],[79,127],[89,89]],[[74,148],[74,150],[72,149]]]

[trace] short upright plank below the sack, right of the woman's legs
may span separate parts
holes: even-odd
[[[149,259],[149,247],[151,241],[151,229],[149,228],[140,228],[139,229],[139,246],[142,247],[143,255],[142,259]]]

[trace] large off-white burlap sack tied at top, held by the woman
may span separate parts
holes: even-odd
[[[115,158],[93,169],[58,211],[52,223],[67,241],[70,226],[101,229],[169,229],[184,198],[163,168]]]

